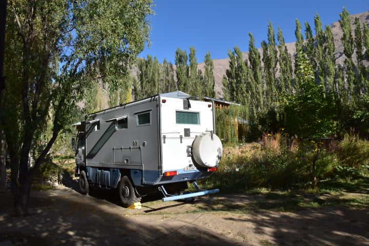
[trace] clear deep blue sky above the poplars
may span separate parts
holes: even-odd
[[[280,26],[286,43],[295,41],[295,19],[308,21],[314,29],[315,12],[320,15],[323,27],[339,19],[343,6],[356,14],[368,11],[369,2],[362,0],[308,0],[308,1],[242,1],[242,0],[154,0],[155,15],[151,19],[150,48],[146,47],[139,57],[156,56],[162,63],[164,58],[174,64],[177,47],[196,49],[198,63],[210,51],[213,59],[228,57],[228,49],[238,45],[248,51],[252,32],[255,45],[260,47],[267,39],[269,20],[275,31]]]

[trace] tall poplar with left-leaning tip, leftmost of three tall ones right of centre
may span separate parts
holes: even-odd
[[[261,61],[260,61],[260,53],[255,48],[255,38],[251,32],[249,32],[249,61],[250,61],[250,69],[253,74],[253,78],[256,84],[256,100],[257,100],[257,109],[264,111],[264,90],[263,90],[263,81],[262,81],[262,70],[261,70]]]

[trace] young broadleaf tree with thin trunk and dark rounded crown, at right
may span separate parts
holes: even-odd
[[[320,142],[321,137],[330,136],[335,130],[335,106],[331,97],[324,95],[322,85],[315,82],[314,70],[304,54],[299,54],[297,75],[299,91],[283,101],[285,130],[290,136],[296,135],[301,141]],[[314,187],[317,186],[315,163],[319,157],[316,146],[313,158],[312,175]]]

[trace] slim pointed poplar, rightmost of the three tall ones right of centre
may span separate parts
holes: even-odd
[[[279,50],[279,78],[278,86],[281,92],[287,90],[292,93],[292,60],[284,42],[282,30],[278,27],[278,50]]]

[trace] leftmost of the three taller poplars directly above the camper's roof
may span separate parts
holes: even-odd
[[[177,76],[177,88],[178,90],[189,93],[189,71],[190,68],[187,64],[187,52],[186,50],[181,50],[177,48],[175,52],[175,65],[177,67],[176,76]]]

